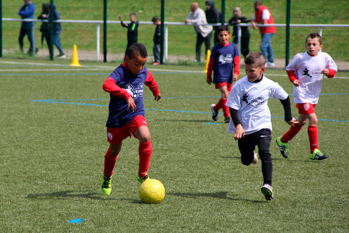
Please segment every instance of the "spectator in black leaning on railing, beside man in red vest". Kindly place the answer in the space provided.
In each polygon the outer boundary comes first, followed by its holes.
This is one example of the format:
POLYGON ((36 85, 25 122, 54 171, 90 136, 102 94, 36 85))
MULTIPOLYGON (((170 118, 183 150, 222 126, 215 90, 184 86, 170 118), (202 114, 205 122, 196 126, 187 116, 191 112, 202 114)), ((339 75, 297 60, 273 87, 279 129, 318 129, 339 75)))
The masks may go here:
MULTIPOLYGON (((236 25, 237 23, 247 23, 251 20, 247 20, 245 16, 242 15, 240 7, 235 7, 233 9, 233 17, 228 21, 230 25, 236 25)), ((233 28, 233 43, 238 43, 238 26, 233 28)), ((246 58, 247 54, 250 53, 250 48, 248 44, 250 43, 250 32, 247 27, 241 27, 241 53, 246 58)))

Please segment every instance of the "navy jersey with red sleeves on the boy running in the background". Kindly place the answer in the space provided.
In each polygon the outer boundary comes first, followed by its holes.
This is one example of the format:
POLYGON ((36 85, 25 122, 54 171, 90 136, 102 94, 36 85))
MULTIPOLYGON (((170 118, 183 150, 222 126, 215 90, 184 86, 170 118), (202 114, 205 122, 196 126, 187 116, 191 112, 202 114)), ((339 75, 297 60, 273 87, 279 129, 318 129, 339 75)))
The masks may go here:
POLYGON ((235 72, 239 74, 240 71, 240 54, 235 44, 228 43, 222 45, 221 43, 213 46, 210 60, 214 60, 213 64, 213 83, 233 81, 233 65, 235 65, 235 72), (237 64, 238 63, 238 64, 237 64))

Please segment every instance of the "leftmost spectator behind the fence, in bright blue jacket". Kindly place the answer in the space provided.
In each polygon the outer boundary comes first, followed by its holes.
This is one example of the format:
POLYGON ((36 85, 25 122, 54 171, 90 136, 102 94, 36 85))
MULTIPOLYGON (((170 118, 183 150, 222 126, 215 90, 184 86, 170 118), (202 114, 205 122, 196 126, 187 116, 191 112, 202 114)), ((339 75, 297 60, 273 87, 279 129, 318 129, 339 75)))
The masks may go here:
MULTIPOLYGON (((30 0, 24 0, 24 5, 18 11, 18 15, 21 16, 22 19, 34 19, 35 5, 30 0)), ((20 50, 23 53, 23 38, 25 34, 28 36, 28 41, 30 43, 30 48, 28 50, 28 54, 33 54, 33 22, 24 22, 22 21, 20 35, 18 36, 18 43, 20 45, 20 50)), ((36 50, 37 51, 37 50, 36 50)))

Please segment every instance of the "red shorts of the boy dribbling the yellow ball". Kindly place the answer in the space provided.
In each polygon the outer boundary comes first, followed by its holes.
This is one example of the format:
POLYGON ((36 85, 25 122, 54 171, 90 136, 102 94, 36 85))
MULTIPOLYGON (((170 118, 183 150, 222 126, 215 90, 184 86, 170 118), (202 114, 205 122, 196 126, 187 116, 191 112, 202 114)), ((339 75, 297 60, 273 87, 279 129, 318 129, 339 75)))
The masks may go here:
MULTIPOLYGON (((133 120, 124 126, 118 128, 107 127, 108 141, 111 144, 119 144, 127 137, 131 137, 134 131, 140 126, 145 125, 148 127, 147 120, 143 116, 135 116, 133 120)), ((133 135, 134 136, 134 135, 133 135)), ((137 138, 136 136, 134 136, 137 138)))

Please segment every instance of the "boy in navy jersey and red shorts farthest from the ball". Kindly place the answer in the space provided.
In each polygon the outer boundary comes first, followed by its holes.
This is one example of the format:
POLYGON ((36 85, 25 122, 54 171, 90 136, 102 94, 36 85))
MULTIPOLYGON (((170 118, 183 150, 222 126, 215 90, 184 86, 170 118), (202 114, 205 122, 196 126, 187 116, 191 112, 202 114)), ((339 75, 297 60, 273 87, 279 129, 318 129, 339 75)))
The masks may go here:
POLYGON ((231 36, 228 26, 220 26, 217 29, 220 43, 212 48, 210 61, 207 68, 207 83, 215 84, 216 89, 221 91, 221 99, 216 104, 211 104, 212 118, 218 119, 218 110, 223 109, 224 122, 229 123, 229 107, 227 102, 232 82, 238 79, 240 73, 240 55, 236 45, 229 42, 231 36), (234 73, 232 72, 234 66, 234 73), (211 78, 213 71, 213 81, 211 78))

